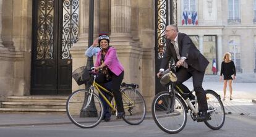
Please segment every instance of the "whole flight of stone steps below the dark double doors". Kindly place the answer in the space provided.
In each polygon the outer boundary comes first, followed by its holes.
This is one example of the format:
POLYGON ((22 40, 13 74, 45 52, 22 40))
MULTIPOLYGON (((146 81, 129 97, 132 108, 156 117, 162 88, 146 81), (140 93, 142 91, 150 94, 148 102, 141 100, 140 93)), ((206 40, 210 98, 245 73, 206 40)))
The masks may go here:
POLYGON ((0 102, 0 112, 66 114, 68 96, 8 96, 0 102))

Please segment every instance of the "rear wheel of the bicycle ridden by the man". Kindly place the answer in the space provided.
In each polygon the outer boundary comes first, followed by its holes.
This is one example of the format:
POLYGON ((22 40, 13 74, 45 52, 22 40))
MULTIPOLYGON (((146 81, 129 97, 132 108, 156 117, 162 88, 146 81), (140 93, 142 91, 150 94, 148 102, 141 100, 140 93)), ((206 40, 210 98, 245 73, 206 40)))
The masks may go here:
POLYGON ((211 116, 211 120, 205 121, 207 127, 212 130, 220 129, 225 122, 225 110, 221 101, 220 95, 212 90, 206 90, 208 114, 211 116))

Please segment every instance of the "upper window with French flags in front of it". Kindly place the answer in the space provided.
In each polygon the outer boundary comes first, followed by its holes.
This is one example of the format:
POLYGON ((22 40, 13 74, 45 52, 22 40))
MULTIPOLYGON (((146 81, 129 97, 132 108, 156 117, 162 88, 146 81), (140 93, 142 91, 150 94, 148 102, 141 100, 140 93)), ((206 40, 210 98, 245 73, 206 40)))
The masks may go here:
POLYGON ((182 25, 198 25, 197 0, 183 0, 182 25))

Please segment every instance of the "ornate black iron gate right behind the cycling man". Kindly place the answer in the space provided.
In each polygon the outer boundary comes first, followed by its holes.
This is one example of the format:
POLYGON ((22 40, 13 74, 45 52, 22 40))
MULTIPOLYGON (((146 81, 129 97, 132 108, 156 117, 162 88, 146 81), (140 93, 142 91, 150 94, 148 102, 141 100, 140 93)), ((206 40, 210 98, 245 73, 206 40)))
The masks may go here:
MULTIPOLYGON (((155 1, 155 67, 156 73, 159 72, 161 60, 166 46, 164 31, 169 24, 177 24, 177 0, 156 0, 155 1)), ((166 90, 156 77, 156 94, 166 90)))

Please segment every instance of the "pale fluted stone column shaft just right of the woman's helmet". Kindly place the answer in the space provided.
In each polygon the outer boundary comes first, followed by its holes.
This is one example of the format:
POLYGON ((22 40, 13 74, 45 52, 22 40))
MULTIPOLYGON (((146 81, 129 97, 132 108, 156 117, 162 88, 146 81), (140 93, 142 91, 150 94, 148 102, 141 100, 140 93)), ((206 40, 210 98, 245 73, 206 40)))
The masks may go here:
POLYGON ((130 44, 129 42, 132 41, 131 17, 132 7, 130 0, 111 0, 111 43, 122 42, 122 45, 130 44))

